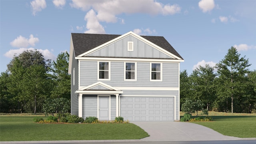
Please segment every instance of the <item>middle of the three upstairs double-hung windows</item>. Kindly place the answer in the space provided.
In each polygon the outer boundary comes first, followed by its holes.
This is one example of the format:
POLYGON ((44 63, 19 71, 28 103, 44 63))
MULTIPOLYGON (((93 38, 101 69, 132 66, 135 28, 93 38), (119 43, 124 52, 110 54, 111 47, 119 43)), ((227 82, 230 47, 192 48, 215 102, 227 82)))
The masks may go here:
POLYGON ((136 63, 125 62, 124 63, 124 80, 136 80, 136 63))

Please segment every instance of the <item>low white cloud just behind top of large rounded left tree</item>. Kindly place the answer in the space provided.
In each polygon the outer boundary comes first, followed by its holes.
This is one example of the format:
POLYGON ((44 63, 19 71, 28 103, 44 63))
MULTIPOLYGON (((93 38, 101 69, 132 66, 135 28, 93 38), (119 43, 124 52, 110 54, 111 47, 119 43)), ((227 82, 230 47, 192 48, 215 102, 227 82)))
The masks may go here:
MULTIPOLYGON (((13 58, 14 55, 18 56, 26 50, 36 50, 36 49, 34 49, 34 48, 19 48, 19 49, 15 49, 15 50, 9 50, 8 52, 6 52, 4 54, 4 56, 6 56, 8 58, 13 58)), ((56 59, 56 56, 54 56, 54 54, 52 54, 52 52, 50 52, 48 49, 46 49, 46 50, 39 49, 38 51, 42 53, 42 55, 44 56, 44 58, 46 60, 47 59, 51 59, 51 60, 56 59)))

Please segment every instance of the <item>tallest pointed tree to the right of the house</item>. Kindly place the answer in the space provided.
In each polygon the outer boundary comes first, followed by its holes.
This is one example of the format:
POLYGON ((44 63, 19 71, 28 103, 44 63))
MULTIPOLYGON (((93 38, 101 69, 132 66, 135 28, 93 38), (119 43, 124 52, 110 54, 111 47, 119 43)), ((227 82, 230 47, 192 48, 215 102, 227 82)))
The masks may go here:
MULTIPOLYGON (((231 112, 234 112, 234 99, 238 100, 242 96, 241 90, 245 88, 245 77, 249 73, 248 59, 240 58, 235 47, 228 50, 227 55, 218 64, 216 64, 218 73, 218 86, 216 94, 218 96, 218 105, 222 105, 226 101, 228 106, 231 101, 231 112)), ((228 107, 225 108, 228 111, 228 107)))

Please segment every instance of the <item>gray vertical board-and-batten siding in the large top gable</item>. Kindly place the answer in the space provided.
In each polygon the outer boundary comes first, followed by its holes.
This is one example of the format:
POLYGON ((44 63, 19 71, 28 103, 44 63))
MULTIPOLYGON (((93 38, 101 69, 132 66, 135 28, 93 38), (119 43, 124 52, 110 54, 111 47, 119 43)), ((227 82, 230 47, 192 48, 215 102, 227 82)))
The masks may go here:
POLYGON ((121 40, 113 42, 88 56, 96 57, 124 57, 124 58, 171 58, 158 49, 142 42, 134 36, 126 36, 121 40), (134 50, 128 51, 127 43, 134 43, 134 50))

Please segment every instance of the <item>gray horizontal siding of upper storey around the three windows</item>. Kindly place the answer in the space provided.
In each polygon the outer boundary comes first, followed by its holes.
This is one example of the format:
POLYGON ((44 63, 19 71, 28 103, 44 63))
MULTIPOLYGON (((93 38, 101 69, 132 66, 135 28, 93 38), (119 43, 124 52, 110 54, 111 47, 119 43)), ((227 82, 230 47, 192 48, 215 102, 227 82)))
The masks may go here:
MULTIPOLYGON (((178 63, 162 63, 162 82, 150 81, 150 62, 137 62, 137 81, 124 80, 124 62, 110 62, 110 86, 178 87, 178 63)), ((80 60, 80 86, 98 82, 98 62, 80 60)))

